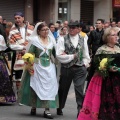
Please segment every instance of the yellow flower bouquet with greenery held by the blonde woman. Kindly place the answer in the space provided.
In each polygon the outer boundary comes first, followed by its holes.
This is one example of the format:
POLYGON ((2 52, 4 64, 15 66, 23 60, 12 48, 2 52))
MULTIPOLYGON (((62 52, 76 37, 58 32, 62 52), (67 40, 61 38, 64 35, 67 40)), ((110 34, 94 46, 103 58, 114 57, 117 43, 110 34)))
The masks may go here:
POLYGON ((98 66, 98 73, 102 75, 103 77, 109 76, 109 69, 111 67, 111 62, 114 60, 114 58, 106 57, 102 60, 99 60, 99 66, 98 66))

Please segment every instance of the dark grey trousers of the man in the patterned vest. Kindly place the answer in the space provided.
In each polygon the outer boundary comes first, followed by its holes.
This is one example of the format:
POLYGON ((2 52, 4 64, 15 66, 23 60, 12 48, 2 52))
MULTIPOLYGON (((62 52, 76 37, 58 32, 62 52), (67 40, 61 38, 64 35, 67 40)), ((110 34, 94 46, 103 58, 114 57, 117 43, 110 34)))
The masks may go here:
POLYGON ((73 81, 78 112, 80 111, 84 99, 83 88, 87 75, 85 66, 72 66, 70 68, 61 67, 61 76, 59 81, 59 108, 65 106, 69 88, 73 81))

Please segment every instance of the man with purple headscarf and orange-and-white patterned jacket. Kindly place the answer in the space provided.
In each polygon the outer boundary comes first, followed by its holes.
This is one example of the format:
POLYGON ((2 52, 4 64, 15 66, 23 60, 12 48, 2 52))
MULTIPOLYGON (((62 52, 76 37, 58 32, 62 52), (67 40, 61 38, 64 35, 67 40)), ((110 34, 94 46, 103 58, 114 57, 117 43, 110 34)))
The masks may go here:
POLYGON ((32 34, 34 27, 26 24, 22 12, 14 14, 15 24, 13 24, 9 33, 9 46, 14 50, 12 58, 12 73, 15 72, 16 87, 19 89, 21 76, 24 67, 22 56, 25 53, 28 37, 32 34))

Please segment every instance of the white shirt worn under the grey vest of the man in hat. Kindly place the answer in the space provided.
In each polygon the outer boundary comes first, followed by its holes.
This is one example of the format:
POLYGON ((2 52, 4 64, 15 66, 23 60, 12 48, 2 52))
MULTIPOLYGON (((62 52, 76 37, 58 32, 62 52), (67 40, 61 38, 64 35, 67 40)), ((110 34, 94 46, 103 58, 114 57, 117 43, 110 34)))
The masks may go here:
MULTIPOLYGON (((78 34, 74 37, 70 37, 73 46, 76 48, 78 44, 78 34)), ((66 54, 64 46, 64 37, 59 37, 57 47, 56 47, 56 56, 61 63, 69 63, 74 59, 74 54, 66 54)), ((83 49, 83 63, 86 67, 89 66, 90 56, 88 51, 87 40, 84 39, 84 49, 83 49)))

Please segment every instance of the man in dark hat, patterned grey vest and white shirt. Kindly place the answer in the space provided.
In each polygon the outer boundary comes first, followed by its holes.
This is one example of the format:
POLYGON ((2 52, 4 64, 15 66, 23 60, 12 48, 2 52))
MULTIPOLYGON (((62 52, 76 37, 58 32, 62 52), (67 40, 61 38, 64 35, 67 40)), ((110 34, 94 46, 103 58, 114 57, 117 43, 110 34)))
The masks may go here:
POLYGON ((61 63, 58 115, 63 115, 62 109, 65 106, 72 80, 75 87, 78 113, 84 99, 83 88, 87 74, 86 67, 90 63, 90 56, 87 40, 84 40, 78 32, 79 23, 70 23, 69 34, 60 37, 56 47, 56 56, 61 63))

